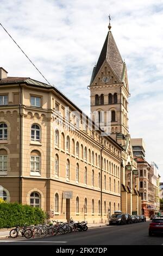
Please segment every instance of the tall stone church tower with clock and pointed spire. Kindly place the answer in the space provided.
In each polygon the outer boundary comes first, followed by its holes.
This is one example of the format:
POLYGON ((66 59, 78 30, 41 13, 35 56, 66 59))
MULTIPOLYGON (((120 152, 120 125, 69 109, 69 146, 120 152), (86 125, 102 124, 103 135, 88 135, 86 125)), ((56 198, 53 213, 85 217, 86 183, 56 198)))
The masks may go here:
POLYGON ((110 136, 124 146, 123 139, 128 135, 127 68, 110 31, 110 23, 108 28, 109 32, 92 72, 91 113, 92 119, 98 123, 97 119, 95 120, 95 112, 98 112, 101 127, 107 127, 110 136), (108 114, 111 119, 109 121, 108 114))

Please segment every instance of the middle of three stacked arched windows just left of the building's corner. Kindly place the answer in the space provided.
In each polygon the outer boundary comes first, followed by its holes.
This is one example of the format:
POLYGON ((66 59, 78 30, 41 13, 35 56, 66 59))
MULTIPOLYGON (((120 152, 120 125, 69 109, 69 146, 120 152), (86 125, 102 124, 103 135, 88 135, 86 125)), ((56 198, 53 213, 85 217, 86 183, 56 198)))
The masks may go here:
POLYGON ((41 154, 37 150, 30 153, 30 172, 40 172, 41 154))

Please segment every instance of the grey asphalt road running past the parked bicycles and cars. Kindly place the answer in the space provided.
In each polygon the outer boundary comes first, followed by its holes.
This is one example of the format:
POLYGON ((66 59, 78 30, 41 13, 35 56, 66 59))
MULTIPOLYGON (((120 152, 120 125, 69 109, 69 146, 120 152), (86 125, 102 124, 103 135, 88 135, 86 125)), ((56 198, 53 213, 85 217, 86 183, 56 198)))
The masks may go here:
POLYGON ((148 236, 149 222, 90 228, 87 231, 39 239, 5 239, 1 245, 163 245, 163 235, 148 236))

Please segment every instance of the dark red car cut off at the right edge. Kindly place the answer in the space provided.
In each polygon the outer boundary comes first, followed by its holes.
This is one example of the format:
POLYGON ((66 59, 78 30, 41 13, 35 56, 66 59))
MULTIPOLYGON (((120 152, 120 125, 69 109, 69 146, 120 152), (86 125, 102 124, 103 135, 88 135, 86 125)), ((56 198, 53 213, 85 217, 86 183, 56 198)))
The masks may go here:
POLYGON ((152 236, 154 233, 163 233, 163 218, 153 218, 149 224, 149 236, 152 236))

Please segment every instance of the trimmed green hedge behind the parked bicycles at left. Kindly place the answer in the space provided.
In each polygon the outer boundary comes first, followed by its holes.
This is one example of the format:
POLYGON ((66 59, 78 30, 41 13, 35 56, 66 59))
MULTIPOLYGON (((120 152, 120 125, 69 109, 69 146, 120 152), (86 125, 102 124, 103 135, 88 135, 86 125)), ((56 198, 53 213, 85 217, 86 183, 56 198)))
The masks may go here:
POLYGON ((18 203, 0 204, 0 228, 44 223, 45 218, 46 215, 40 208, 18 203))

